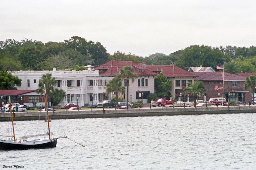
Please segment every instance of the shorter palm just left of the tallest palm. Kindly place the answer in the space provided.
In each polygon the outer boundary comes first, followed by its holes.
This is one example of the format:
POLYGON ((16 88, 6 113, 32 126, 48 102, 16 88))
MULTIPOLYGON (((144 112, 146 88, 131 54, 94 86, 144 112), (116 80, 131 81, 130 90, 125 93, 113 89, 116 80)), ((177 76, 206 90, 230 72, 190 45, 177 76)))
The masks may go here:
POLYGON ((114 92, 116 95, 116 108, 118 107, 118 92, 124 93, 125 88, 122 86, 122 82, 118 77, 113 78, 107 84, 107 92, 114 92))

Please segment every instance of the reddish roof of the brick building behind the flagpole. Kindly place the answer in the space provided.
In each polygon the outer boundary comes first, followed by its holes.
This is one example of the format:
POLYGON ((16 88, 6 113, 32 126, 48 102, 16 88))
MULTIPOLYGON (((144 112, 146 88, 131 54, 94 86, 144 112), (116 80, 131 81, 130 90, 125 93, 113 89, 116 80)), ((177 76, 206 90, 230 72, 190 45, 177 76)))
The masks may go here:
MULTIPOLYGON (((199 76, 195 78, 195 80, 199 81, 222 81, 223 80, 223 72, 216 71, 216 72, 193 72, 195 75, 199 76)), ((245 80, 244 76, 231 74, 231 73, 224 73, 224 80, 245 80)))

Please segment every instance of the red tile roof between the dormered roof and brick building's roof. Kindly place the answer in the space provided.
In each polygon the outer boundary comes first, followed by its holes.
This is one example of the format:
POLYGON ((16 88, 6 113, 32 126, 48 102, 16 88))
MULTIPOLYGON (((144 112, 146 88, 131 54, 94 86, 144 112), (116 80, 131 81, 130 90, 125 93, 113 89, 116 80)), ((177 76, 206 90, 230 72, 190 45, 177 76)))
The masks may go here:
POLYGON ((194 72, 188 72, 173 64, 171 65, 147 65, 147 69, 154 72, 162 72, 165 77, 197 77, 194 72))

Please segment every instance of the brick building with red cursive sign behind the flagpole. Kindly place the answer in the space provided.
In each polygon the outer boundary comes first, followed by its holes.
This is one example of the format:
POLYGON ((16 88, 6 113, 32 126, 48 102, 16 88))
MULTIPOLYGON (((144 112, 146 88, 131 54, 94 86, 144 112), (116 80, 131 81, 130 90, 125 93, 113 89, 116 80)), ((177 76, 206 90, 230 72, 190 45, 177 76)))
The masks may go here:
MULTIPOLYGON (((214 97, 222 97, 223 72, 193 72, 197 78, 203 81, 206 93, 206 100, 214 97)), ((251 100, 252 90, 244 89, 245 77, 241 75, 224 73, 224 93, 223 97, 227 101, 248 102, 251 100)))

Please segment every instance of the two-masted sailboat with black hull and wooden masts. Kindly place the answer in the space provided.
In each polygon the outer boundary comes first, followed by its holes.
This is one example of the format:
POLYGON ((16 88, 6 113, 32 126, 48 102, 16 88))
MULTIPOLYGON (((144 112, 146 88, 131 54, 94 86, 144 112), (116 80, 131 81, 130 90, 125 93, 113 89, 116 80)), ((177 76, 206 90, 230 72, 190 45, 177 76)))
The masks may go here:
MULTIPOLYGON (((17 140, 15 138, 14 124, 13 124, 13 112, 12 112, 12 106, 10 104, 9 107, 10 107, 11 120, 12 120, 13 135, 12 136, 2 136, 2 135, 0 135, 0 137, 11 137, 11 138, 8 138, 8 140, 0 139, 0 149, 2 149, 2 150, 15 150, 15 149, 31 149, 31 148, 41 149, 41 148, 54 148, 54 147, 56 147, 57 139, 58 138, 63 138, 63 137, 53 138, 53 134, 50 133, 50 121, 49 121, 49 113, 48 113, 48 105, 47 105, 47 96, 46 96, 45 85, 44 85, 44 98, 45 98, 45 108, 47 108, 46 112, 47 112, 48 132, 44 133, 44 134, 36 134, 36 135, 29 135, 29 136, 20 137, 20 140, 17 140), (31 138, 31 137, 38 137, 38 136, 48 136, 48 139, 29 140, 29 138, 31 138), (21 141, 21 139, 23 141, 21 141)), ((9 100, 10 100, 10 97, 9 97, 9 100)))

